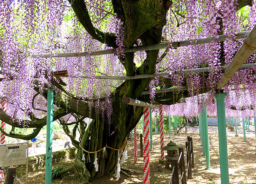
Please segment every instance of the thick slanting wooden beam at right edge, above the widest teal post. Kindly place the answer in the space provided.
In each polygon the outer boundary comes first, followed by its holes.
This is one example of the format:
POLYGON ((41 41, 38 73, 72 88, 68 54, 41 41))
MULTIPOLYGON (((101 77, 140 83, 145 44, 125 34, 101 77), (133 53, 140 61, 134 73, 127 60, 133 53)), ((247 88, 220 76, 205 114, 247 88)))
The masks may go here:
POLYGON ((235 57, 231 61, 227 70, 221 77, 221 81, 218 83, 217 88, 221 89, 225 86, 237 72, 237 70, 243 65, 244 62, 255 52, 256 50, 256 26, 253 27, 253 30, 250 32, 249 36, 245 39, 243 45, 236 53, 235 57))

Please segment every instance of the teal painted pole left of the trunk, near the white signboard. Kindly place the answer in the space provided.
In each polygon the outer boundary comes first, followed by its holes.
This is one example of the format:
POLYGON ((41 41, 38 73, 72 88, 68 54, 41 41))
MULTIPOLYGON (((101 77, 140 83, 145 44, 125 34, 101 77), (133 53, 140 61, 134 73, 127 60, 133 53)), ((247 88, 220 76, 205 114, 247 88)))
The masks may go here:
POLYGON ((47 92, 47 132, 46 132, 46 159, 45 184, 52 183, 52 121, 53 121, 53 89, 47 92))

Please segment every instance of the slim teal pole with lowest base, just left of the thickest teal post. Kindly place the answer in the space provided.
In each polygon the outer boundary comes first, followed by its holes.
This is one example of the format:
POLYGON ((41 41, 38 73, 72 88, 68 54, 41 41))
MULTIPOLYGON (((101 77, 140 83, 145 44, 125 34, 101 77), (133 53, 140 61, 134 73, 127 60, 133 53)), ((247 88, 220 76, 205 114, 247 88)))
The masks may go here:
POLYGON ((204 142, 205 142, 205 153, 206 153, 206 168, 211 168, 210 162, 210 151, 209 151, 209 135, 208 135, 208 123, 207 123, 207 108, 204 104, 204 142))

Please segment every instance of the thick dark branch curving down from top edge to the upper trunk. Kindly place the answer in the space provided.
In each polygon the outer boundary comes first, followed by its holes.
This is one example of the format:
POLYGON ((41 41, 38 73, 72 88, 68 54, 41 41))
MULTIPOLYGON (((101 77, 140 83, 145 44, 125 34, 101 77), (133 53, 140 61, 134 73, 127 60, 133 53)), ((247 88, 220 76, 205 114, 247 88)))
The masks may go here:
POLYGON ((110 47, 116 47, 116 36, 113 33, 104 33, 96 29, 90 19, 86 4, 84 0, 68 0, 72 9, 76 13, 79 22, 84 26, 87 32, 101 43, 107 44, 110 47))

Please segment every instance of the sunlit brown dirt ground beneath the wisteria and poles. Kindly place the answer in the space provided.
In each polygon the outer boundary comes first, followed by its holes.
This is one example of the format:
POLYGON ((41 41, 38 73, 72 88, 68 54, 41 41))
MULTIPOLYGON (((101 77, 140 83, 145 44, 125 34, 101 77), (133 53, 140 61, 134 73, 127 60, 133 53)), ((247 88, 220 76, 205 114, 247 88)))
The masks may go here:
MULTIPOLYGON (((254 130, 254 126, 250 129, 254 130)), ((192 179, 187 179, 188 184, 220 184, 220 162, 218 148, 218 127, 209 127, 209 150, 211 169, 206 170, 206 158, 202 155, 203 149, 199 139, 198 127, 188 127, 187 133, 183 132, 165 133, 164 141, 167 144, 170 140, 185 148, 187 136, 193 138, 195 168, 192 168, 192 179)), ((255 132, 246 130, 247 142, 243 142, 242 126, 238 127, 239 137, 235 137, 235 132, 227 129, 227 147, 229 160, 230 184, 256 184, 256 141, 255 132)), ((139 139, 138 139, 139 144, 139 139)), ((185 150, 185 149, 184 149, 185 150)), ((165 154, 166 155, 166 154, 165 154)), ((160 158, 160 135, 153 135, 153 150, 150 151, 150 182, 151 184, 168 184, 172 171, 159 164, 160 158)), ((185 158, 186 159, 186 158, 185 158)), ((68 166, 73 161, 53 164, 54 166, 68 166)), ((186 160, 185 160, 186 162, 186 160)), ((128 161, 121 167, 138 171, 138 173, 126 172, 131 177, 121 173, 121 178, 117 180, 115 175, 107 175, 96 179, 91 184, 143 184, 143 157, 140 157, 140 147, 138 149, 138 161, 134 163, 133 142, 128 142, 128 161)), ((71 184, 74 175, 70 173, 63 178, 55 179, 52 184, 71 184)), ((25 178, 20 178, 25 183, 25 178)), ((15 181, 15 184, 18 184, 15 181)), ((44 184, 44 170, 37 170, 29 173, 29 184, 44 184)))

